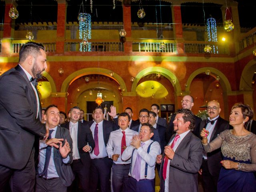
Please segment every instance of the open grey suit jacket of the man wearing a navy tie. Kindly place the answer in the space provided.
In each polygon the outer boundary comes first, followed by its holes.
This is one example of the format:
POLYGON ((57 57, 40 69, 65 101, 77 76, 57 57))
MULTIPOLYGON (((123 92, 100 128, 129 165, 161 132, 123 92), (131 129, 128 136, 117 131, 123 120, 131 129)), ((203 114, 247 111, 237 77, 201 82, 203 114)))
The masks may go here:
POLYGON ((54 164, 56 167, 56 171, 58 173, 58 176, 60 177, 62 183, 64 186, 68 187, 72 184, 74 180, 74 174, 72 172, 70 164, 72 163, 73 157, 72 157, 72 139, 69 134, 69 130, 63 127, 58 126, 56 130, 56 135, 55 138, 63 138, 64 142, 62 142, 62 145, 65 143, 65 139, 68 141, 70 145, 71 152, 68 154, 70 158, 70 162, 68 164, 64 164, 62 161, 62 156, 60 154, 60 151, 56 148, 53 149, 53 159, 54 159, 54 164))

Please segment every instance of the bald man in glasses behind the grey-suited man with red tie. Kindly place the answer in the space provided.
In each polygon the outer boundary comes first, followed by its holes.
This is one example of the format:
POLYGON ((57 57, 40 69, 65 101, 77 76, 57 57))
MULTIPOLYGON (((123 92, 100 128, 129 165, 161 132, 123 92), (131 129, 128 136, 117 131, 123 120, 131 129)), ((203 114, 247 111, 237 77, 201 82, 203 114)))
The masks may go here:
MULTIPOLYGON (((189 109, 191 110, 192 107, 194 106, 194 98, 190 95, 185 95, 182 100, 181 100, 181 103, 182 103, 182 108, 183 109, 189 109)), ((175 116, 176 114, 173 114, 171 116, 171 119, 170 119, 170 122, 166 128, 166 141, 170 140, 170 137, 174 134, 174 126, 173 126, 173 121, 175 119, 175 116)), ((199 118, 198 116, 194 115, 194 118, 195 118, 195 127, 194 127, 194 130, 192 130, 192 132, 197 136, 200 132, 199 132, 199 126, 200 126, 200 123, 202 121, 201 118, 199 118)))

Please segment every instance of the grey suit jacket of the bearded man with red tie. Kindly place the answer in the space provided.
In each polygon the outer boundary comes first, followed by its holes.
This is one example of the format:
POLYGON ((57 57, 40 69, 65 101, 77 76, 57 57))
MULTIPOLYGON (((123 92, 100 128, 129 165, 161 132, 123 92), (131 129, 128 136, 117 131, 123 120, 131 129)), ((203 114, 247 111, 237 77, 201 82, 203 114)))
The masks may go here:
MULTIPOLYGON (((176 134, 172 135, 174 138, 176 134)), ((170 162, 169 192, 198 192, 198 170, 202 164, 203 148, 199 138, 192 132, 184 137, 170 162)), ((164 191, 162 176, 164 155, 160 166, 160 188, 164 191)), ((168 173, 167 173, 168 174, 168 173)))

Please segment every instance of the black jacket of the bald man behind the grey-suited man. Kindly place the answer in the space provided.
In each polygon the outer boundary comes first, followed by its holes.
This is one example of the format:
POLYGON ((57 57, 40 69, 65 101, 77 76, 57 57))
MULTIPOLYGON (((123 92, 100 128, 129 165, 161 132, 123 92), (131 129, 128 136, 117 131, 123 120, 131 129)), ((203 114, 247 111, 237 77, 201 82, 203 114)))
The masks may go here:
MULTIPOLYGON (((174 134, 174 130, 173 130, 173 121, 176 117, 176 114, 173 114, 171 116, 170 122, 166 128, 166 141, 170 140, 171 136, 174 134)), ((202 121, 202 119, 196 115, 194 115, 195 117, 195 128, 194 130, 192 130, 192 133, 194 133, 196 136, 198 136, 199 133, 199 129, 200 129, 200 123, 202 121)))

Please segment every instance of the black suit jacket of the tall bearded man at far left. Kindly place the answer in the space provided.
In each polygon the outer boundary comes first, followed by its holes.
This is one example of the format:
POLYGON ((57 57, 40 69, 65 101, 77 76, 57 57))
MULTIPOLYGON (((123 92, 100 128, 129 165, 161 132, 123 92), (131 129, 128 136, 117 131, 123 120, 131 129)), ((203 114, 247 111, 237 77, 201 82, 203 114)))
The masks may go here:
MULTIPOLYGON (((39 100, 40 104, 40 100, 39 100)), ((26 166, 35 136, 45 134, 38 118, 36 94, 28 77, 18 65, 0 76, 0 165, 13 169, 26 166)), ((38 140, 39 142, 39 140, 38 140)), ((39 143, 37 143, 39 147, 39 143)), ((38 150, 39 148, 36 148, 38 150)))

